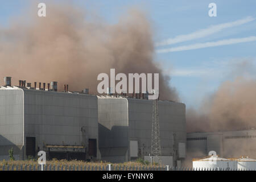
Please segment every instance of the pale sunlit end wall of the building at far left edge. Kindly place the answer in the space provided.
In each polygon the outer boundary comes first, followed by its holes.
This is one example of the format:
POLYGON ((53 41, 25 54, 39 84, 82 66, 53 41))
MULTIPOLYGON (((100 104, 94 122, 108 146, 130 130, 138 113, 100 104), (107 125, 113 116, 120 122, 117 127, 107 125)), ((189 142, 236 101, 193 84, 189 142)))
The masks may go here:
POLYGON ((23 146, 23 90, 0 90, 0 155, 22 158, 23 146))

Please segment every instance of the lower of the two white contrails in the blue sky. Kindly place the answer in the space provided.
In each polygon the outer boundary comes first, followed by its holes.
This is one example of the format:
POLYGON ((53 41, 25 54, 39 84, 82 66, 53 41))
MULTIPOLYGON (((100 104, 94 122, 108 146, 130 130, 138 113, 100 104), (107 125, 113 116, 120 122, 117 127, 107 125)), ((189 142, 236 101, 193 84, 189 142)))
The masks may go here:
POLYGON ((237 38, 237 39, 225 39, 225 40, 218 40, 216 42, 197 43, 197 44, 191 44, 188 46, 179 46, 179 47, 172 47, 172 48, 166 48, 166 49, 158 49, 158 50, 156 50, 156 52, 164 53, 164 52, 187 51, 187 50, 191 50, 191 49, 224 46, 224 45, 229 45, 229 44, 237 44, 237 43, 252 42, 252 41, 256 41, 256 36, 249 36, 247 38, 237 38))

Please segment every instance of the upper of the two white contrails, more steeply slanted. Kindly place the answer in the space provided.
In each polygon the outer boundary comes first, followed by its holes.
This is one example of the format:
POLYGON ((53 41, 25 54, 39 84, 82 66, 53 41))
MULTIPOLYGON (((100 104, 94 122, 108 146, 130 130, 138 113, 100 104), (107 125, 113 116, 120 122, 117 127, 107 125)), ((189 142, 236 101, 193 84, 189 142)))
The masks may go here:
POLYGON ((252 18, 251 16, 248 16, 246 18, 236 20, 234 22, 217 24, 217 25, 205 28, 205 29, 201 29, 201 30, 192 32, 191 34, 178 35, 175 38, 163 40, 162 42, 156 43, 155 46, 156 47, 166 46, 166 45, 176 44, 176 43, 180 43, 180 42, 185 42, 185 41, 188 41, 188 40, 204 38, 205 36, 209 36, 209 35, 215 34, 216 32, 220 32, 220 31, 224 30, 225 28, 240 26, 242 24, 251 22, 254 19, 255 18, 252 18))

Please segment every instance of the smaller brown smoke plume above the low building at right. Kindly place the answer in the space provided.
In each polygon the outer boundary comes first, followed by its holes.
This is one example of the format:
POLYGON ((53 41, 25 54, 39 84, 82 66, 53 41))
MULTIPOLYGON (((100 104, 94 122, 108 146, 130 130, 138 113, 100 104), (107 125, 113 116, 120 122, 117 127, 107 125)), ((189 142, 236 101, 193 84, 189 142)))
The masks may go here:
POLYGON ((192 131, 243 130, 256 127, 256 80, 237 77, 221 84, 201 106, 187 111, 187 129, 192 131))

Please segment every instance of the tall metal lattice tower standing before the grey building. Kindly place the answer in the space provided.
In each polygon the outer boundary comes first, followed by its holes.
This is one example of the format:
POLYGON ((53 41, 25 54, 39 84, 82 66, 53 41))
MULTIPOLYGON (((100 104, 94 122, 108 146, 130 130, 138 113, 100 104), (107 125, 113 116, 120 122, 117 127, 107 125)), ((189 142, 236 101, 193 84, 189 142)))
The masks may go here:
POLYGON ((161 155, 158 100, 153 101, 151 155, 152 156, 160 156, 161 155))

